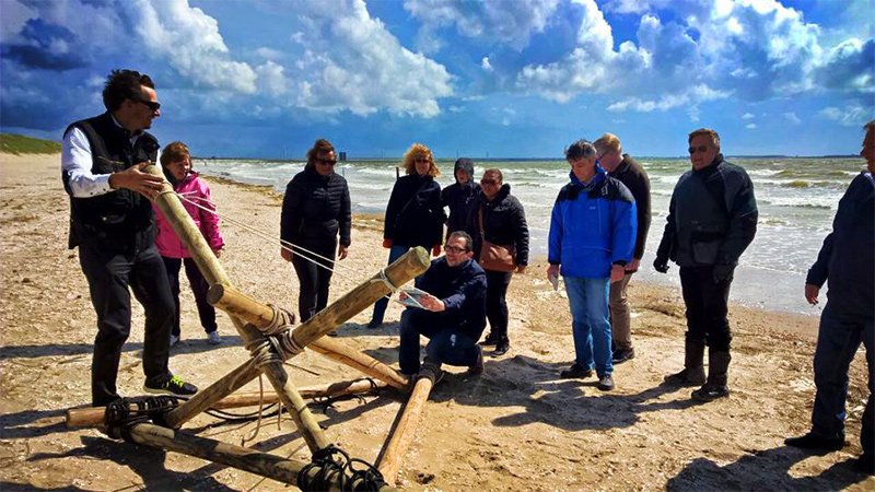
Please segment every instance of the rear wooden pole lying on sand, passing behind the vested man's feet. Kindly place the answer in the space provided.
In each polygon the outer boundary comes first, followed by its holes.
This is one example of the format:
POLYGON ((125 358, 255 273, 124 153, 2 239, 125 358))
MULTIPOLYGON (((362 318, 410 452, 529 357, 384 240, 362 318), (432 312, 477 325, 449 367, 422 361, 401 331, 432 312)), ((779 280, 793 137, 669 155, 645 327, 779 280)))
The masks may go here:
MULTIPOLYGON (((310 388, 301 388, 299 393, 302 398, 331 398, 347 395, 358 395, 375 389, 383 389, 386 384, 373 379, 341 380, 330 385, 320 385, 310 388)), ((219 400, 210 407, 210 410, 226 410, 241 407, 255 407, 259 403, 272 405, 279 402, 279 397, 272 393, 264 395, 258 393, 245 393, 241 395, 230 395, 219 400)), ((130 406, 131 410, 137 410, 136 405, 130 406)), ((206 409, 205 409, 206 410, 206 409)), ((104 414, 106 407, 71 408, 67 410, 67 426, 74 427, 96 427, 104 425, 104 414)))

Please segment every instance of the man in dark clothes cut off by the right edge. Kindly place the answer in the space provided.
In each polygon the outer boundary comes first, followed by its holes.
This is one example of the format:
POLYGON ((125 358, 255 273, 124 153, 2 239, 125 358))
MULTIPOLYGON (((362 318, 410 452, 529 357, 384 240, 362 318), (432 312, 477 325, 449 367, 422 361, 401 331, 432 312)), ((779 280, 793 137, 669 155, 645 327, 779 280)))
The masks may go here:
POLYGON ((868 400, 863 410, 860 444, 863 455, 854 462, 859 471, 875 473, 875 120, 866 124, 860 152, 866 171, 860 173, 839 201, 832 232, 824 239, 817 261, 805 280, 805 300, 817 304, 829 279, 827 305, 820 315, 814 353, 817 394, 812 430, 785 441, 805 449, 836 450, 844 447, 844 400, 848 367, 862 341, 868 366, 868 400))

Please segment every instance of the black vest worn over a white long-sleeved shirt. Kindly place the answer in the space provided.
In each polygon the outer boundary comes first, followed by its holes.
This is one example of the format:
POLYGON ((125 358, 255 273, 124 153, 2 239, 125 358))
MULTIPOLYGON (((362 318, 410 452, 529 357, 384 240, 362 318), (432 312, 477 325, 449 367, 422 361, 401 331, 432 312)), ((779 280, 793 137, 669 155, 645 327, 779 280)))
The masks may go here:
MULTIPOLYGON (((155 162, 159 144, 143 132, 130 144, 130 132, 115 124, 109 113, 77 121, 73 127, 85 133, 91 145, 92 174, 125 171, 143 162, 155 162)), ((63 187, 70 194, 70 249, 83 243, 100 243, 102 249, 132 251, 154 243, 155 219, 152 203, 142 195, 117 189, 95 197, 72 196, 69 176, 62 173, 63 187)))

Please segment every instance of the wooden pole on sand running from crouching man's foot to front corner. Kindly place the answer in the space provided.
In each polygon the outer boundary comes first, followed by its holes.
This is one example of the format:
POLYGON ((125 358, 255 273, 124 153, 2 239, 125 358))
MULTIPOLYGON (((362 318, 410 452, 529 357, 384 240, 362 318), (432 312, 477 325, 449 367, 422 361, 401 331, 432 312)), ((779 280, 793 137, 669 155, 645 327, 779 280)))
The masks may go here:
POLYGON ((401 460, 407 454, 410 443, 413 442, 413 435, 422 415, 422 407, 425 400, 429 399, 431 388, 440 378, 440 368, 423 364, 407 403, 398 412, 398 418, 395 420, 392 431, 389 431, 389 438, 386 441, 376 461, 376 467, 386 483, 394 485, 396 482, 401 460))

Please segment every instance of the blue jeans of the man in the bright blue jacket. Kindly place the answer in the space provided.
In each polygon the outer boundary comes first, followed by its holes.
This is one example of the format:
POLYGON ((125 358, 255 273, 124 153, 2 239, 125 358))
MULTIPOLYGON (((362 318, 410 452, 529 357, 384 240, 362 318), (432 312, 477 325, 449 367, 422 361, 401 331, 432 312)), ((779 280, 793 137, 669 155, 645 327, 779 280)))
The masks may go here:
POLYGON ((564 277, 568 303, 571 307, 574 352, 578 365, 593 368, 598 377, 614 372, 608 319, 609 279, 564 277))

